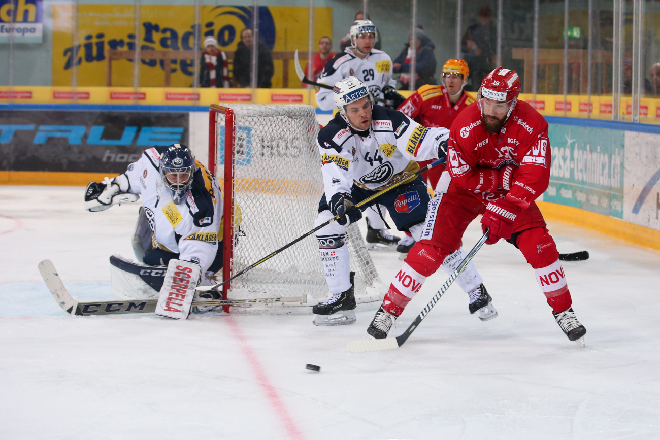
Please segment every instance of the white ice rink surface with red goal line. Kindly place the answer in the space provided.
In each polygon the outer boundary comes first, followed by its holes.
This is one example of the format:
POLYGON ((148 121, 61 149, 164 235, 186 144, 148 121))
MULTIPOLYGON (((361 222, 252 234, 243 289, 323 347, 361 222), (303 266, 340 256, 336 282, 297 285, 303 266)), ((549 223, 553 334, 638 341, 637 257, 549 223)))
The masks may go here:
MULTIPOLYGON (((39 261, 75 298, 112 299, 108 257, 132 257, 138 204, 84 212, 82 191, 0 187, 0 438, 660 438, 659 252, 550 222, 560 251, 591 253, 564 263, 586 349, 554 323, 519 251, 498 243, 475 263, 499 317, 469 315, 452 286, 404 346, 351 354, 371 311, 343 327, 65 314, 39 261)), ((465 248, 479 237, 472 224, 465 248)), ((401 261, 372 256, 389 283, 401 261)), ((445 279, 428 279, 393 335, 445 279)))

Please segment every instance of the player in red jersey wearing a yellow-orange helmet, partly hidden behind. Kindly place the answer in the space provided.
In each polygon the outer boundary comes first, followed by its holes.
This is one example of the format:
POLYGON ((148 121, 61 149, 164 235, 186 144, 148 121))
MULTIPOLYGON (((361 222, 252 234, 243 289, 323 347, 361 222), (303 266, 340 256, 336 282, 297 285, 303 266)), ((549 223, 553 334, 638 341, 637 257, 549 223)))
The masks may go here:
MULTIPOLYGON (((442 85, 434 86, 427 84, 421 86, 397 110, 403 111, 405 115, 413 119, 416 123, 424 125, 424 127, 444 127, 449 129, 458 114, 465 107, 475 102, 473 96, 470 96, 463 90, 463 87, 467 84, 469 75, 470 69, 464 59, 447 59, 447 62, 442 66, 442 85)), ((419 166, 423 168, 429 163, 428 161, 420 162, 419 166)), ((436 191, 440 176, 445 170, 444 165, 436 166, 422 173, 422 177, 436 191)), ((449 179, 447 179, 446 183, 449 183, 449 179)), ((441 185, 439 190, 441 192, 446 191, 446 185, 441 185)), ((413 245, 413 237, 406 234, 399 241, 397 251, 407 254, 413 245)), ((401 259, 403 259, 403 256, 405 255, 402 255, 401 259)))

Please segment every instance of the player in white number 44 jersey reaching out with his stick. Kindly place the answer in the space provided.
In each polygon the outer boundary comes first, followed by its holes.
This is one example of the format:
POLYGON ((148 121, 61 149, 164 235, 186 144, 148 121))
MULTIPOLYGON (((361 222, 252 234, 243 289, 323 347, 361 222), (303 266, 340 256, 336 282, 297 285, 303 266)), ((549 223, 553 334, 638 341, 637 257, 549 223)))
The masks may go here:
MULTIPOLYGON (((315 225, 335 215, 342 216, 316 232, 321 263, 330 298, 315 305, 315 325, 345 325, 355 322, 356 307, 350 272, 350 255, 345 243, 347 224, 362 217, 360 203, 419 170, 416 161, 446 158, 449 131, 422 127, 400 111, 374 106, 366 85, 355 77, 335 84, 339 113, 319 131, 321 172, 325 189, 315 225)), ((376 202, 385 206, 397 229, 420 237, 427 218, 429 195, 421 176, 396 187, 376 202)), ((429 210, 429 215, 432 215, 429 210)), ((465 257, 459 249, 442 268, 451 273, 465 257)), ((482 278, 472 263, 457 278, 469 295, 469 311, 482 321, 497 316, 482 278)))

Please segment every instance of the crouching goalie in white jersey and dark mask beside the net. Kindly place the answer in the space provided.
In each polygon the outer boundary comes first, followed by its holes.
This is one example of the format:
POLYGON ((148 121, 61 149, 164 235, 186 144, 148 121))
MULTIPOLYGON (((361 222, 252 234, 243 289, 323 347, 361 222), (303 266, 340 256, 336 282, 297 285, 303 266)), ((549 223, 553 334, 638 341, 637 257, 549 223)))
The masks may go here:
MULTIPOLYGON (((222 268, 222 243, 218 242, 222 194, 216 177, 195 160, 187 146, 145 150, 126 172, 106 177, 104 182, 91 182, 84 204, 89 211, 100 211, 131 196, 137 200, 137 195, 142 196, 143 207, 133 249, 144 264, 111 257, 112 273, 119 273, 119 280, 112 280, 114 294, 139 299, 158 296, 165 270, 154 272, 145 267, 163 268, 171 259, 199 265, 207 278, 222 268)), ((206 294, 209 299, 220 299, 215 291, 206 294)))

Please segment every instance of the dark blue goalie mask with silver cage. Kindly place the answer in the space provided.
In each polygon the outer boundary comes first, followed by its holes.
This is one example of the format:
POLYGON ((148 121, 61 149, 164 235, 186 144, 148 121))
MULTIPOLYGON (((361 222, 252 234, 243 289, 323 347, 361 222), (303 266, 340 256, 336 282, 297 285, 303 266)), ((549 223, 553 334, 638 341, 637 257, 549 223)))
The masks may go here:
POLYGON ((182 203, 193 185, 193 173, 195 157, 187 146, 172 144, 160 154, 160 176, 175 204, 182 203))

